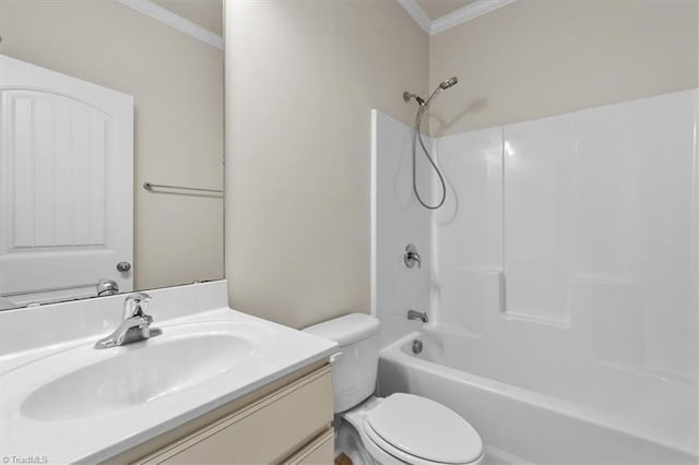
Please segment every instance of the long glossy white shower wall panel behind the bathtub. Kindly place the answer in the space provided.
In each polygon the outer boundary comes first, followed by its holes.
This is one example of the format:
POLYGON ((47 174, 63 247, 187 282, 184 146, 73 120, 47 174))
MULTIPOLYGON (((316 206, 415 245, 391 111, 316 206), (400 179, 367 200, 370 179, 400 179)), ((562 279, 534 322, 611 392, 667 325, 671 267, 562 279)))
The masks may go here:
POLYGON ((438 324, 511 351, 500 377, 536 392, 592 404, 595 390, 626 377, 659 406, 684 405, 666 417, 642 405, 616 415, 688 448, 699 363, 697 94, 438 139, 450 198, 433 217, 438 324))

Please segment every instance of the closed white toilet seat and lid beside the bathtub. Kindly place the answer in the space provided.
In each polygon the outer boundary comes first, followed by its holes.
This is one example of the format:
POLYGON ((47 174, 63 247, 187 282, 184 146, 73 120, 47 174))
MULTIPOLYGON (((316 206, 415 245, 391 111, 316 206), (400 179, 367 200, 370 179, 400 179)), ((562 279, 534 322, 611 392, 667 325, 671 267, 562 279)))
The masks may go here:
POLYGON ((475 465, 483 458, 483 441, 473 427, 425 397, 402 393, 371 397, 343 417, 381 463, 389 463, 387 456, 391 463, 411 465, 475 465))

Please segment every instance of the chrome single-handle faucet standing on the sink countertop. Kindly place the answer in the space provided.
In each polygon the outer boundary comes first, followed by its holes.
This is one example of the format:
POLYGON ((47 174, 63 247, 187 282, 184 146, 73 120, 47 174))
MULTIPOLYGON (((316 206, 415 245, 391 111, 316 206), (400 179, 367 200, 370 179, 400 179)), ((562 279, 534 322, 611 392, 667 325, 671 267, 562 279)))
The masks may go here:
POLYGON ((123 300, 123 320, 114 333, 103 337, 95 344, 96 349, 122 346, 163 334, 157 327, 151 327, 153 317, 144 312, 151 296, 145 293, 133 293, 123 300))

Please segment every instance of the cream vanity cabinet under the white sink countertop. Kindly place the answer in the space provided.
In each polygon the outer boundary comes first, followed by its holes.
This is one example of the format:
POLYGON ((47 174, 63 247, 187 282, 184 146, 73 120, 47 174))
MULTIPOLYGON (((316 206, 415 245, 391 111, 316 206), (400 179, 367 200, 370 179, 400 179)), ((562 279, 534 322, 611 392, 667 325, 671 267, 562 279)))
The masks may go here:
POLYGON ((258 389, 111 462, 332 464, 332 407, 331 367, 316 365, 258 389))

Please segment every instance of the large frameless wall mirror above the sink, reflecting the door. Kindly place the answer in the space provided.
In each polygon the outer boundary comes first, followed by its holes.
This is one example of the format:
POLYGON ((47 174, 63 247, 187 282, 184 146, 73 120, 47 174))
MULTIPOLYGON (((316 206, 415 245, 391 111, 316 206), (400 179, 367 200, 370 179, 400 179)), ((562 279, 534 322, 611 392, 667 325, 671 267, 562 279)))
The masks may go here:
POLYGON ((223 277, 223 2, 0 2, 0 309, 223 277))

